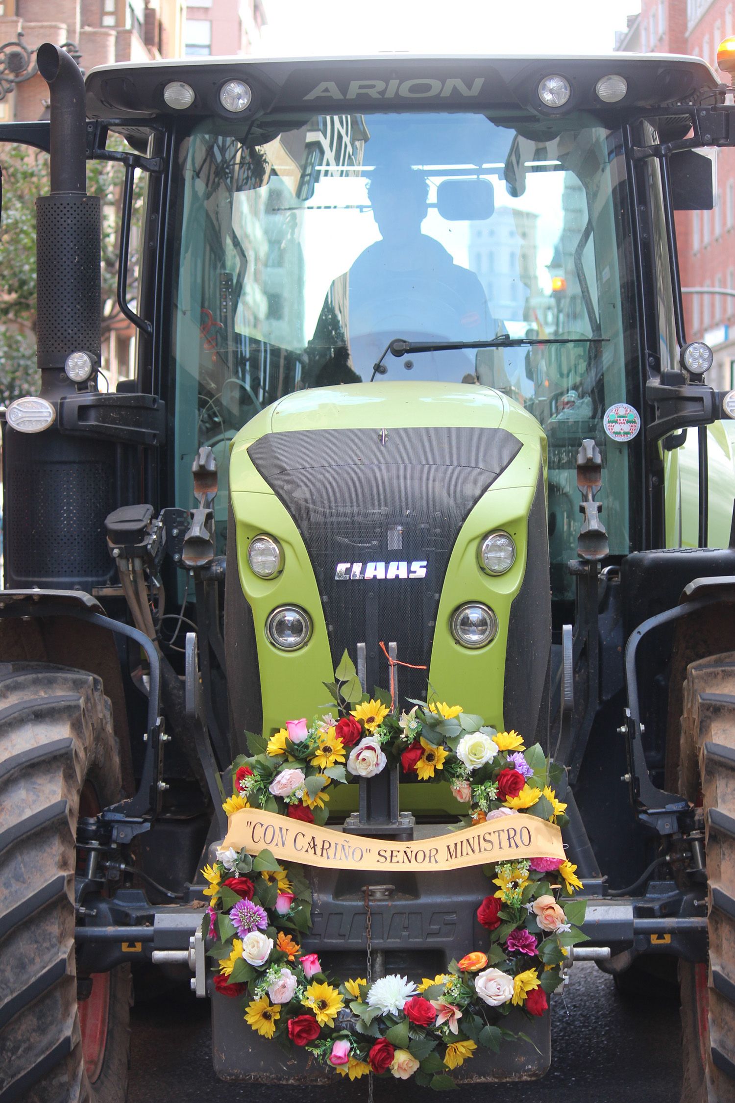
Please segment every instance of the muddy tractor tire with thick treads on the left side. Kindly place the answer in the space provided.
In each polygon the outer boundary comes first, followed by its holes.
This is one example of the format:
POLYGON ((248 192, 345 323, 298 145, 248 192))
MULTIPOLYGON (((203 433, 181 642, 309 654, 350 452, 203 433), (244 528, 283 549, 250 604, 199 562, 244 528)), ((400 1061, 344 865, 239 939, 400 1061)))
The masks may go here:
POLYGON ((0 1103, 125 1103, 130 968, 74 947, 77 818, 120 789, 100 679, 0 663, 0 1103))

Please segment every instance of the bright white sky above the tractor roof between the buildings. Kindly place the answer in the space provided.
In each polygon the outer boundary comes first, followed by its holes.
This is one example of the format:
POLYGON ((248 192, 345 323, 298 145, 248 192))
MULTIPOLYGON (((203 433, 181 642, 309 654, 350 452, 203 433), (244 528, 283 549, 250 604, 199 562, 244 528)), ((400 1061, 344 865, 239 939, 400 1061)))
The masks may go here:
POLYGON ((640 0, 264 0, 260 53, 606 54, 640 0))

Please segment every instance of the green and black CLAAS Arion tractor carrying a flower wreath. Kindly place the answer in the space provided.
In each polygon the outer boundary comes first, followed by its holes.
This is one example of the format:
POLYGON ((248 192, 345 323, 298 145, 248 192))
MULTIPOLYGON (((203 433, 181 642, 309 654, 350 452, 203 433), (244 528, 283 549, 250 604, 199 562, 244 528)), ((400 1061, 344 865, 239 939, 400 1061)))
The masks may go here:
POLYGON ((674 224, 726 88, 37 64, 50 122, 0 127, 51 157, 3 420, 0 1101, 122 1103, 133 981, 210 998, 225 1080, 531 1079, 584 959, 678 970, 683 1099, 735 1100, 735 393, 674 224), (87 160, 125 168, 115 392, 87 160))

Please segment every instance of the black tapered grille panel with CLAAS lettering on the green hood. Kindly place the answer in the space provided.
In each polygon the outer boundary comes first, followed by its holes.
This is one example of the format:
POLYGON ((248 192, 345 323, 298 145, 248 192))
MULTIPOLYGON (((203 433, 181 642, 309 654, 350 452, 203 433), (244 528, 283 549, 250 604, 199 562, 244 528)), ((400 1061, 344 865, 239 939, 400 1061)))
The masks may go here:
MULTIPOLYGON (((248 454, 294 518, 316 576, 335 664, 367 644, 368 687, 387 685, 378 642, 429 666, 446 564, 462 524, 521 448, 505 429, 315 429, 261 437, 248 454), (343 566, 337 579, 338 565, 343 566), (379 576, 355 578, 361 564, 379 576), (390 565, 397 565, 391 567, 390 565), (406 565, 406 566, 403 566, 406 565), (424 569, 425 565, 425 569, 424 569), (401 577, 401 575, 409 577, 401 577), (410 577, 413 574, 417 577, 410 577), (423 574, 423 577, 421 577, 423 574), (379 656, 380 661, 379 662, 379 656)), ((400 695, 425 699, 426 672, 400 695)))

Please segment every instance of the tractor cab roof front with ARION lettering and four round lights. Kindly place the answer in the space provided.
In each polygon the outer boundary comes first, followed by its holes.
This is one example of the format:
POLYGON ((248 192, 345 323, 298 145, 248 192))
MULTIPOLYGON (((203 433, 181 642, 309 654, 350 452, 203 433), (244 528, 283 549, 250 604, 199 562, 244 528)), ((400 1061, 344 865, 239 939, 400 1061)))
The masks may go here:
POLYGON ((93 69, 87 76, 90 118, 153 115, 233 116, 219 104, 227 81, 246 81, 252 101, 241 116, 275 113, 469 110, 531 111, 541 117, 570 113, 631 110, 646 113, 678 104, 712 103, 722 84, 696 57, 668 54, 614 53, 590 57, 504 57, 489 55, 278 58, 202 57, 120 64, 93 69), (572 95, 564 107, 549 109, 538 96, 543 77, 564 76, 572 95), (628 85, 612 107, 595 92, 601 77, 617 74, 628 85), (166 105, 163 89, 173 81, 195 94, 185 110, 166 105))

